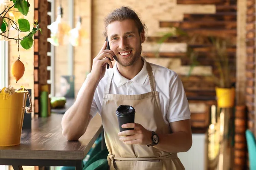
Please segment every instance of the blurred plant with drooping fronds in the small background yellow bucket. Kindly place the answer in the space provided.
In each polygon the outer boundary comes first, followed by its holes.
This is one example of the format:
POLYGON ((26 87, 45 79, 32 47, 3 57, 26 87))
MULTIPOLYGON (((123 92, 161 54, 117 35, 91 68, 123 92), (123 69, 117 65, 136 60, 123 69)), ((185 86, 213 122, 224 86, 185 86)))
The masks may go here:
MULTIPOLYGON (((175 27, 173 27, 175 28, 175 27)), ((173 29, 172 29, 173 30, 173 29)), ((232 75, 232 68, 234 68, 235 62, 232 62, 228 54, 227 48, 234 45, 229 38, 205 36, 201 34, 188 34, 180 28, 175 28, 176 31, 167 32, 162 34, 162 37, 158 41, 158 47, 156 50, 156 57, 159 57, 160 45, 169 38, 183 37, 188 42, 188 47, 185 57, 189 59, 190 69, 187 74, 189 77, 193 68, 196 65, 200 65, 198 61, 198 51, 192 48, 193 45, 203 44, 209 48, 207 54, 212 60, 212 65, 215 66, 215 74, 208 76, 215 84, 216 100, 218 107, 230 108, 234 106, 235 88, 232 75)))

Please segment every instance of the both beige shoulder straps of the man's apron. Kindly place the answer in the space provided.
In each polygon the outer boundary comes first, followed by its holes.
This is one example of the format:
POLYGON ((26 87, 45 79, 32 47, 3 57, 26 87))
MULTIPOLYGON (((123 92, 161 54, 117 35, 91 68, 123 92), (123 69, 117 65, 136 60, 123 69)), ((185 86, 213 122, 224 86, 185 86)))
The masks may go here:
MULTIPOLYGON (((147 62, 147 71, 148 71, 148 79, 149 79, 149 82, 150 82, 151 91, 156 91, 156 85, 155 85, 155 82, 154 82, 154 75, 153 75, 153 72, 152 72, 151 65, 148 62, 147 62)), ((109 94, 110 85, 111 85, 113 75, 114 75, 114 71, 111 71, 111 75, 108 77, 108 82, 107 82, 104 94, 109 94)))

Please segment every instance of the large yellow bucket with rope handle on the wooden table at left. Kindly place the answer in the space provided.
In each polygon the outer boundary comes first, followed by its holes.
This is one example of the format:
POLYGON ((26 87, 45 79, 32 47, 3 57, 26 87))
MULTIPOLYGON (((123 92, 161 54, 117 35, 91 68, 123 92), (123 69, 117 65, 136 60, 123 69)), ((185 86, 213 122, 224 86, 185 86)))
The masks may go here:
POLYGON ((9 95, 4 92, 5 89, 0 93, 0 147, 20 144, 26 98, 29 94, 27 90, 22 90, 9 95))

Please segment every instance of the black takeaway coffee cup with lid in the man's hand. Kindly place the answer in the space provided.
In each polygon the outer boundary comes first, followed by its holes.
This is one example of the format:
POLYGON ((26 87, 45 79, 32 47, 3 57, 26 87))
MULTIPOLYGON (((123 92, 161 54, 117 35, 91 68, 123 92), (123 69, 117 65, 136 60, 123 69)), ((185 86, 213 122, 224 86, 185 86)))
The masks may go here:
POLYGON ((123 124, 134 123, 135 109, 129 105, 120 105, 116 109, 116 116, 120 132, 124 130, 133 130, 134 128, 122 128, 123 124))

